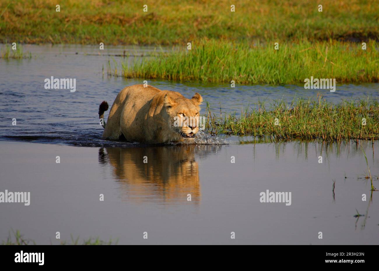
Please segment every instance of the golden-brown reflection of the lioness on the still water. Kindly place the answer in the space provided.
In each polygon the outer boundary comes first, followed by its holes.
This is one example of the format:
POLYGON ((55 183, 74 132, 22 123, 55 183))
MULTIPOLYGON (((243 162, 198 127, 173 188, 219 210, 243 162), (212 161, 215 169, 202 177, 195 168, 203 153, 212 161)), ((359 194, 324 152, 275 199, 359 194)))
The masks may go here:
POLYGON ((99 162, 110 164, 121 182, 123 199, 186 204, 187 195, 199 203, 199 165, 195 154, 212 153, 217 146, 176 145, 100 148, 99 162), (147 163, 144 163, 146 162, 147 163))

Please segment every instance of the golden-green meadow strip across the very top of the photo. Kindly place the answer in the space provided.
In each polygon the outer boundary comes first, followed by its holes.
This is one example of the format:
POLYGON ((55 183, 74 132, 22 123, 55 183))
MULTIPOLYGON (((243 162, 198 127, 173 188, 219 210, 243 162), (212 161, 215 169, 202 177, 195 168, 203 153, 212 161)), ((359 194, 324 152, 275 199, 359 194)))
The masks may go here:
POLYGON ((379 37, 376 0, 3 0, 0 41, 181 44, 203 37, 279 43, 379 37), (56 12, 56 5, 60 12, 56 12), (143 12, 143 5, 148 12, 143 12), (235 12, 230 5, 235 5, 235 12), (318 5, 323 12, 318 12, 318 5))

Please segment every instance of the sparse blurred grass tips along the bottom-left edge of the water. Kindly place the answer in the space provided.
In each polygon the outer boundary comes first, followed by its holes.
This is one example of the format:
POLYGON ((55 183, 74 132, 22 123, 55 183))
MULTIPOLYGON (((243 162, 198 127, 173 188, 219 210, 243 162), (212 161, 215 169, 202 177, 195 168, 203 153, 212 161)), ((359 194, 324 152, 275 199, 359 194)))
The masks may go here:
MULTIPOLYGON (((88 238, 84 239, 82 242, 79 241, 79 237, 74 239, 71 235, 71 241, 61 241, 61 245, 117 245, 118 240, 102 241, 99 238, 88 238)), ((2 241, 1 245, 36 245, 36 243, 31 239, 26 239, 20 234, 20 231, 13 231, 12 234, 9 232, 9 235, 5 241, 2 241)))

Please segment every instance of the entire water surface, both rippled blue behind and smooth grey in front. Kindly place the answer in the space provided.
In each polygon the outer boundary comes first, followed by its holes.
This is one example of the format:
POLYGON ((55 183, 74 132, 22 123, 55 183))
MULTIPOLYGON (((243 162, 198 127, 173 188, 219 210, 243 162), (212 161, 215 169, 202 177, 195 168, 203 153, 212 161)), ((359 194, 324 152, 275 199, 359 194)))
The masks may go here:
MULTIPOLYGON (((261 143, 230 137, 220 141, 224 145, 144 146, 100 139, 100 102, 111 104, 123 87, 143 82, 102 74, 108 55, 124 50, 149 55, 153 48, 112 47, 98 56, 97 47, 25 45, 33 59, 0 60, 0 192, 31 193, 30 206, 0 203, 0 240, 19 229, 39 244, 59 243, 57 231, 61 240, 72 234, 119 238, 119 244, 379 243, 379 192, 371 195, 364 179, 362 153, 363 148, 379 188, 379 142, 261 143), (50 76, 76 78, 76 92, 44 89, 50 76), (266 190, 291 192, 291 205, 260 202, 266 190), (356 210, 365 216, 355 218, 356 210)), ((302 86, 231 90, 226 84, 149 84, 188 98, 199 92, 213 110, 219 111, 221 102, 223 112, 239 112, 258 99, 316 95, 302 86)), ((323 94, 338 102, 377 99, 378 90, 379 84, 341 85, 323 94)))

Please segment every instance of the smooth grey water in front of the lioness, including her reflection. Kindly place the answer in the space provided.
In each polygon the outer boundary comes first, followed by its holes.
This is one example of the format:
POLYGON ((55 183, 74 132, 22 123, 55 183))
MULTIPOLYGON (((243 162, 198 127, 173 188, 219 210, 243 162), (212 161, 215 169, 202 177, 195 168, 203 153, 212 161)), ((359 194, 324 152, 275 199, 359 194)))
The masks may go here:
MULTIPOLYGON (((371 150, 371 173, 377 175, 379 159, 372 155, 371 143, 364 147, 366 153, 371 150)), ((4 239, 10 229, 19 229, 39 244, 59 243, 57 231, 62 240, 72 234, 80 240, 119 238, 119 244, 379 241, 379 195, 373 192, 370 202, 370 182, 359 179, 366 170, 360 145, 89 148, 2 142, 0 148, 0 191, 31 193, 30 206, 0 204, 4 239), (57 155, 60 164, 55 163, 57 155), (260 202, 267 189, 291 192, 291 205, 260 202), (358 221, 356 210, 365 215, 358 221), (230 239, 232 231, 235 240, 230 239)), ((379 187, 376 179, 374 185, 379 187)))

